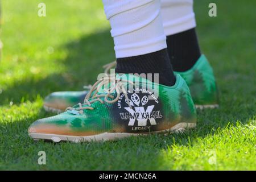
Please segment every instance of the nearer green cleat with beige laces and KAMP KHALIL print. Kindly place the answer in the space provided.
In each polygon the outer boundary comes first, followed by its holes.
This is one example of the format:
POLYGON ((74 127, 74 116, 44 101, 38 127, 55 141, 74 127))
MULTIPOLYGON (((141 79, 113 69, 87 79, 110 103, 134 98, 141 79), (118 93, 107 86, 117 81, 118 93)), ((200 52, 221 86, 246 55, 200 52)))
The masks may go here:
POLYGON ((123 74, 97 81, 83 104, 35 121, 28 135, 34 140, 84 142, 195 126, 195 106, 180 75, 176 75, 174 86, 164 86, 123 74))

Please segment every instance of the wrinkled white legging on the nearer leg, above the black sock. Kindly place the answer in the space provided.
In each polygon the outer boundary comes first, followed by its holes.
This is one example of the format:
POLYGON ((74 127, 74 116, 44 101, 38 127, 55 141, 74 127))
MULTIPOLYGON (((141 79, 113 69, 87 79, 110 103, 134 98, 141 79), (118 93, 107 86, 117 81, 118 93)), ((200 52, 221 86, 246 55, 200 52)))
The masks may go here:
POLYGON ((117 58, 166 48, 160 0, 102 0, 117 58))

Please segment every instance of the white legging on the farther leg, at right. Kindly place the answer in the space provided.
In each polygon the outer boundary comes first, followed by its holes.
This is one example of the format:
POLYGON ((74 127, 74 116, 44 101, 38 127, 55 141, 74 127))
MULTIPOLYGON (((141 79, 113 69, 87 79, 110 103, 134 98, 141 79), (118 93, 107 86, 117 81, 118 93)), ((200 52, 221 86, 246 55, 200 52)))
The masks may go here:
POLYGON ((166 36, 196 27, 193 0, 161 0, 161 14, 166 36))

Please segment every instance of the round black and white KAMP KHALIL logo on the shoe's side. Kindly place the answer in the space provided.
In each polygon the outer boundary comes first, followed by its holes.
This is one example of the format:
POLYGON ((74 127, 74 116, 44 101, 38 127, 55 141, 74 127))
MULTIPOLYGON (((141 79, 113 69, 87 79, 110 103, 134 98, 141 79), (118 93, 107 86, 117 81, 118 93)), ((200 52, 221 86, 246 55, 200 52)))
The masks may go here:
POLYGON ((160 119, 163 118, 158 98, 145 89, 137 89, 133 93, 128 90, 127 96, 129 101, 122 93, 117 102, 118 120, 125 122, 126 130, 129 132, 154 131, 160 119), (148 99, 149 97, 152 99, 148 99))

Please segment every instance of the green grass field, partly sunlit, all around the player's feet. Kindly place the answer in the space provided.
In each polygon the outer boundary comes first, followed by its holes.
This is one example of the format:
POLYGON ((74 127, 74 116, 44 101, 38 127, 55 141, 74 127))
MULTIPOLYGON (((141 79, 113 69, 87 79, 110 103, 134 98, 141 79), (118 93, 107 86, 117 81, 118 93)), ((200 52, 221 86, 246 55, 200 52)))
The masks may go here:
POLYGON ((51 114, 43 98, 80 90, 114 60, 101 1, 3 1, 0 63, 0 169, 256 169, 255 1, 196 1, 202 51, 216 73, 220 109, 198 110, 184 134, 131 137, 105 143, 44 143, 28 126, 51 114), (217 17, 208 16, 210 2, 217 17), (47 164, 38 165, 46 151, 47 164))

